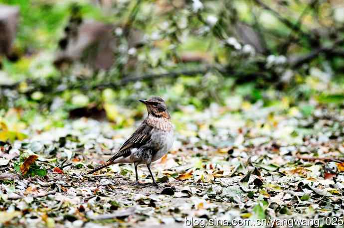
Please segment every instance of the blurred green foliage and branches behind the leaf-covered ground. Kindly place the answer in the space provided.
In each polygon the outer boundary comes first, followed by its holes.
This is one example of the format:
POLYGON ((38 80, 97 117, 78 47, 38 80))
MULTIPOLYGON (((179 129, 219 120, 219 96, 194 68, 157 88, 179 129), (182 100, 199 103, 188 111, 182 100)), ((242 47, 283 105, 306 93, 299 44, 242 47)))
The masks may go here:
POLYGON ((0 2, 2 114, 26 121, 130 124, 121 107, 151 95, 175 112, 268 106, 280 91, 290 105, 344 101, 341 0, 0 2))

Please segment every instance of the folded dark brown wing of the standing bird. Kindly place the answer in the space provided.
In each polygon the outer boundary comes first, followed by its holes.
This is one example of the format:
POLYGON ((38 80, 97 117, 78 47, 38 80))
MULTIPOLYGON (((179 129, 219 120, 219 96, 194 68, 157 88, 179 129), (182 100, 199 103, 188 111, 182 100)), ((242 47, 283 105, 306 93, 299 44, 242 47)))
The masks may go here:
POLYGON ((152 129, 153 126, 144 121, 128 138, 128 140, 123 143, 119 151, 112 158, 110 158, 109 161, 114 161, 116 158, 121 156, 129 156, 131 149, 139 148, 140 146, 146 144, 151 140, 152 129))

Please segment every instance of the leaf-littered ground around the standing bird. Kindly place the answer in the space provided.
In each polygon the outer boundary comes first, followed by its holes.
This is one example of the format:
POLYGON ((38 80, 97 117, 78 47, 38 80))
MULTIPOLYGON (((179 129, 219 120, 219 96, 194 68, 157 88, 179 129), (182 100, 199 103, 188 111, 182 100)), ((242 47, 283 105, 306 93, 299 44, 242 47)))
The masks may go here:
POLYGON ((213 104, 182 113, 172 113, 172 151, 152 166, 158 187, 145 166, 140 186, 131 164, 86 174, 110 158, 140 121, 122 129, 85 117, 46 129, 33 122, 28 138, 1 145, 0 223, 93 228, 193 221, 202 227, 209 219, 257 225, 270 218, 272 226, 276 218, 317 223, 330 217, 328 225, 341 225, 344 115, 337 105, 242 102, 237 111, 213 104), (25 156, 36 155, 36 168, 47 174, 17 174, 19 154, 23 164, 25 156))

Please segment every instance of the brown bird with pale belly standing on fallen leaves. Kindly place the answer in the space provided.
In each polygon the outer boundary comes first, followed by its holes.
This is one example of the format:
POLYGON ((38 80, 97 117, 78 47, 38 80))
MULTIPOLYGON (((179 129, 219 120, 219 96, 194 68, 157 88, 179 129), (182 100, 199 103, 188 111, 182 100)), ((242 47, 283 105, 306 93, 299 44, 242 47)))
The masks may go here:
POLYGON ((89 171, 88 174, 112 164, 133 163, 136 185, 139 185, 137 166, 145 164, 151 174, 153 185, 157 186, 151 171, 151 163, 162 158, 172 148, 174 133, 171 115, 167 110, 165 101, 160 97, 151 97, 148 100, 139 101, 146 105, 147 117, 114 156, 104 164, 89 171))

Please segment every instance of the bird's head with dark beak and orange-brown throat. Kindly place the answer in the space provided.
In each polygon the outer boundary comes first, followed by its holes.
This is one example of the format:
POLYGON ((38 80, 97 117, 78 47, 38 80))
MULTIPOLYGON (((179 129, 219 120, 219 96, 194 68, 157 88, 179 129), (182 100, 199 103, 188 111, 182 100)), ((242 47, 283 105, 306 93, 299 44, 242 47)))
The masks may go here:
POLYGON ((140 102, 146 105, 148 114, 156 117, 171 118, 167 111, 167 106, 162 98, 151 97, 148 100, 140 100, 140 102))

